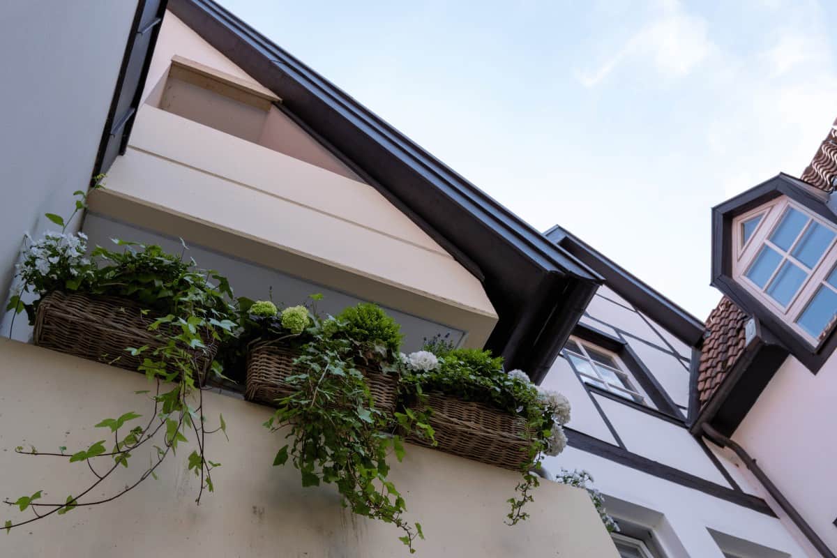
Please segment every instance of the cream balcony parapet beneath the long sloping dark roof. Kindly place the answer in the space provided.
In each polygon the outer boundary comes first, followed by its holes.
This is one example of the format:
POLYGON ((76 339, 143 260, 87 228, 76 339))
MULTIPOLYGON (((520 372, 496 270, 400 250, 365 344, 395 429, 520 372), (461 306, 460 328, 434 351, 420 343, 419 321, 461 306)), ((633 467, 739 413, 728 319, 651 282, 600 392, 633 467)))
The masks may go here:
POLYGON ((496 324, 480 281, 371 187, 148 105, 90 207, 466 330, 467 346, 496 324))

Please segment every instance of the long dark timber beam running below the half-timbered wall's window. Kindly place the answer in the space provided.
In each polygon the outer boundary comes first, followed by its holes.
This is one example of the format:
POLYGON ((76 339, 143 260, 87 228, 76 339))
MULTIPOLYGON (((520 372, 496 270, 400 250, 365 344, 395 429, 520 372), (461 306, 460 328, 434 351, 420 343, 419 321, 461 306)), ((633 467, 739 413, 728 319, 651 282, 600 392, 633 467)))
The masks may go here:
POLYGON ((719 499, 726 500, 732 504, 740 505, 747 509, 752 509, 760 514, 776 517, 773 510, 763 499, 738 492, 734 489, 728 489, 721 484, 713 483, 706 479, 701 479, 696 475, 686 473, 680 469, 670 467, 663 463, 656 462, 649 458, 644 458, 636 453, 631 453, 624 448, 618 448, 611 443, 603 442, 598 438, 593 438, 588 434, 578 432, 569 427, 564 427, 567 433, 567 440, 571 448, 576 448, 583 452, 593 453, 598 457, 608 459, 614 463, 619 463, 625 467, 634 468, 642 471, 645 474, 650 474, 658 479, 664 479, 671 483, 680 484, 686 488, 698 490, 704 494, 709 494, 719 499))

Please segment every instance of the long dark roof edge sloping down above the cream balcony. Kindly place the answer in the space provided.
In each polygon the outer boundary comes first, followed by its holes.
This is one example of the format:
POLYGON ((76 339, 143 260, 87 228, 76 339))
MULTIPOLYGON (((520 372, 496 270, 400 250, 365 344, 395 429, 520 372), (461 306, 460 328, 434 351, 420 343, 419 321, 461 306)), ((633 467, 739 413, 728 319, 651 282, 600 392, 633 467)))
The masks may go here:
POLYGON ((264 37, 251 28, 247 23, 237 18, 225 8, 212 0, 171 0, 170 9, 178 17, 184 4, 203 10, 210 17, 222 21, 232 28, 255 49, 259 50, 266 59, 270 59, 284 72, 293 72, 295 79, 304 84, 314 95, 320 96, 331 105, 335 105, 341 113, 353 120, 355 125, 366 131, 377 143, 386 146, 394 155, 408 160, 417 171, 432 175, 436 180, 444 182, 449 188, 446 195, 485 222, 490 228, 502 231, 504 236, 521 249, 521 253, 540 264, 547 270, 558 270, 578 279, 600 280, 596 274, 586 266, 579 265, 575 259, 567 258, 567 253, 557 250, 555 246, 543 237, 535 228, 517 217, 513 212, 482 192, 474 184, 461 177, 429 152, 410 141, 408 137, 396 130, 392 125, 372 113, 366 107, 353 99, 345 91, 332 84, 329 80, 317 74, 303 64, 299 59, 289 54, 285 49, 264 37))

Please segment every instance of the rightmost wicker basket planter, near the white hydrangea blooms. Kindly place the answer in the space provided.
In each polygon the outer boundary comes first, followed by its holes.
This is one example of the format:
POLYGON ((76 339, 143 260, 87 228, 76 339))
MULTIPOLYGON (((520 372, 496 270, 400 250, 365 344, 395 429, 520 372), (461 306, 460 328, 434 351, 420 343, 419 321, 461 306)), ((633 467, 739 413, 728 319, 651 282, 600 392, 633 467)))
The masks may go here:
MULTIPOLYGON (((516 471, 528 462, 530 442, 526 439, 525 419, 441 393, 430 393, 427 406, 433 409, 430 426, 435 431, 436 449, 516 471)), ((432 447, 415 434, 408 438, 432 447)))

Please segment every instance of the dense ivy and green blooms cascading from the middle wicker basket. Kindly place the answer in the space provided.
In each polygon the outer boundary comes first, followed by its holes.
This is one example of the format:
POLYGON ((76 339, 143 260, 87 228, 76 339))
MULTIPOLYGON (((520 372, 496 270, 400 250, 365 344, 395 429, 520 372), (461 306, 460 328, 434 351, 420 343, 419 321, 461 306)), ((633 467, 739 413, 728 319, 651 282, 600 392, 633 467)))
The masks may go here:
MULTIPOLYGON (((271 311, 263 302, 256 305, 251 310, 271 311)), ((357 305, 325 320, 303 310, 285 309, 269 326, 275 334, 284 333, 277 342, 293 339, 300 350, 295 374, 286 378, 294 392, 264 423, 272 431, 286 429, 291 438, 273 464, 290 460, 303 486, 335 484, 352 513, 395 525, 412 553, 414 540, 424 539, 424 533, 421 524, 404 519, 406 502, 388 479, 389 453, 401 461, 403 440, 388 433, 393 417, 375 407, 363 371, 397 373, 393 353, 401 341, 399 326, 375 305, 357 305)), ((426 423, 408 426, 432 437, 426 423)))

